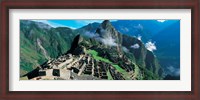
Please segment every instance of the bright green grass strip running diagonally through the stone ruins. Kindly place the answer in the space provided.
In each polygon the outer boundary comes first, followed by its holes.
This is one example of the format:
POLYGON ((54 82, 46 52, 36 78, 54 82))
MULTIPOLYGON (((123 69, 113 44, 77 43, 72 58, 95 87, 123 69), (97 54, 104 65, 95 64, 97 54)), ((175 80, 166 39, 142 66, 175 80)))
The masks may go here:
POLYGON ((96 52, 95 50, 88 50, 87 51, 88 54, 91 54, 93 56, 94 59, 98 60, 98 61, 102 61, 102 62, 106 62, 106 63, 109 63, 111 64, 113 67, 116 68, 116 70, 118 72, 120 72, 123 77, 126 79, 126 80, 130 80, 130 75, 128 72, 126 72, 124 69, 122 69, 119 65, 117 64, 113 64, 109 59, 106 59, 106 58, 102 58, 100 56, 98 56, 98 52, 96 52))

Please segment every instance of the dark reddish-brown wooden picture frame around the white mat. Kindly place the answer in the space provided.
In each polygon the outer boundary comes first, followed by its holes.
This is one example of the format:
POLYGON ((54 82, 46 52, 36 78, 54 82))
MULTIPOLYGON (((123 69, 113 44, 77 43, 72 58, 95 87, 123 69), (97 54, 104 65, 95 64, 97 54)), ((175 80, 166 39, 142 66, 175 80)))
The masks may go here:
POLYGON ((1 1, 0 100, 134 99, 199 100, 199 0, 3 0, 1 1), (9 9, 191 9, 191 91, 9 91, 9 9))

